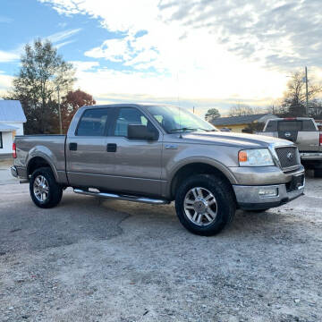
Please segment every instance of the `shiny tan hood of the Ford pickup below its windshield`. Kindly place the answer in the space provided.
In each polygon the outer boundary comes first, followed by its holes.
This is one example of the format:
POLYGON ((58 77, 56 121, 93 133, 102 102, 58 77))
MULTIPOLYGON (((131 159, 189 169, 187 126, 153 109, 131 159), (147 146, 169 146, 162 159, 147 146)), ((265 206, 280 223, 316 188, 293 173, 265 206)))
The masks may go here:
POLYGON ((241 148, 267 148, 271 144, 275 145, 292 145, 288 140, 276 139, 273 137, 233 133, 233 132, 186 132, 177 135, 181 140, 189 143, 198 144, 216 144, 241 148))

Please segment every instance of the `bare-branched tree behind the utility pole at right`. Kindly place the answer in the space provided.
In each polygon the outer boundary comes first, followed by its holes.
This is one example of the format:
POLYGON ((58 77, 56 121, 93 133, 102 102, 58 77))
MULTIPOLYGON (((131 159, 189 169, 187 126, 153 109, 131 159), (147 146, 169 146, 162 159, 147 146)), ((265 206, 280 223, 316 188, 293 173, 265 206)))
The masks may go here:
MULTIPOLYGON (((321 85, 308 80, 308 98, 313 99, 322 91, 321 85)), ((306 116, 306 86, 305 73, 293 72, 291 80, 287 83, 281 104, 281 116, 306 116)))

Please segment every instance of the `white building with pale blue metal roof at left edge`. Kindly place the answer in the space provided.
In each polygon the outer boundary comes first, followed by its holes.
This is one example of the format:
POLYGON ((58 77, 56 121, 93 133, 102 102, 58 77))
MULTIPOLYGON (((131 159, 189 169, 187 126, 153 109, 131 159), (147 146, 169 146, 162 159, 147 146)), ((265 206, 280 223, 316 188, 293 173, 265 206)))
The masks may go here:
POLYGON ((20 101, 0 100, 0 158, 12 155, 14 136, 23 135, 26 122, 20 101))

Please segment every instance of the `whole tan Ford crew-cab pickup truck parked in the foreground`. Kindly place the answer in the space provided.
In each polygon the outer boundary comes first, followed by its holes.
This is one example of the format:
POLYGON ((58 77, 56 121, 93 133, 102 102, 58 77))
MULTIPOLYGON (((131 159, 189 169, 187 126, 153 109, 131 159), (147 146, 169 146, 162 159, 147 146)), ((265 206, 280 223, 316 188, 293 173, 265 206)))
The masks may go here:
POLYGON ((67 135, 16 136, 12 174, 39 208, 66 187, 107 199, 168 204, 192 233, 219 233, 236 208, 263 211, 304 190, 298 148, 288 140, 217 131, 184 108, 83 106, 67 135))

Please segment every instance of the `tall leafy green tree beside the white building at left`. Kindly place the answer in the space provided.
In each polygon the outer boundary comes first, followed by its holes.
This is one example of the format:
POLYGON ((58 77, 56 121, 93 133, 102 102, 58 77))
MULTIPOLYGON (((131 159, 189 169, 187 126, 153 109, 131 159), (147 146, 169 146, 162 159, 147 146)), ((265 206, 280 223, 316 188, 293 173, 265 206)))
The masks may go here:
POLYGON ((13 79, 13 89, 4 99, 19 99, 27 117, 26 134, 56 131, 57 87, 61 95, 72 89, 72 64, 64 62, 53 45, 40 38, 27 44, 21 55, 21 69, 13 79))

